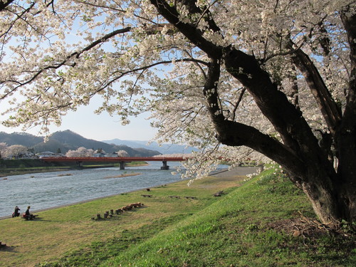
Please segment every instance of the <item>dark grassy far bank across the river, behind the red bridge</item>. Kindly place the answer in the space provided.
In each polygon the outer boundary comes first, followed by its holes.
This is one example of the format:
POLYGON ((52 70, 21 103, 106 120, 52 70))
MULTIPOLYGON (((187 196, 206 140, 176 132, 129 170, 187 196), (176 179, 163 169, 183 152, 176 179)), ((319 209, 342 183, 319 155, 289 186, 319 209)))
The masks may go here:
MULTIPOLYGON (((147 162, 127 162, 127 167, 143 166, 147 162)), ((59 172, 70 169, 93 169, 103 167, 120 167, 117 163, 94 162, 78 166, 75 162, 42 162, 41 159, 0 159, 0 177, 36 172, 59 172)))

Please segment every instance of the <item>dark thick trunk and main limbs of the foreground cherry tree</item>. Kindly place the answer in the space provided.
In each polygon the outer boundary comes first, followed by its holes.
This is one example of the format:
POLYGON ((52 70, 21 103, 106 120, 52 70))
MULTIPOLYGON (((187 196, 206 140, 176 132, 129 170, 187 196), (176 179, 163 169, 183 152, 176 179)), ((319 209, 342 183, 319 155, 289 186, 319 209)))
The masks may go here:
MULTIPOLYGON (((290 174, 292 182, 303 189, 313 204, 315 214, 321 221, 336 226, 342 219, 355 221, 355 175, 356 175, 356 57, 351 56, 352 84, 347 108, 343 117, 331 98, 318 69, 302 51, 295 54, 295 64, 306 75, 308 85, 328 122, 330 132, 340 161, 337 172, 328 159, 330 145, 320 145, 313 130, 303 117, 303 113, 288 101, 278 90, 270 75, 261 68, 254 56, 239 51, 233 46, 221 47, 204 38, 204 31, 194 23, 184 23, 179 19, 176 6, 164 0, 151 0, 159 14, 172 23, 189 41, 204 51, 211 59, 209 73, 204 85, 206 108, 216 129, 217 139, 229 146, 246 145, 261 152, 282 165, 290 174), (263 134, 254 127, 227 120, 219 104, 220 68, 226 70, 253 96, 263 115, 270 120, 281 136, 281 141, 263 134), (340 121, 341 120, 341 121, 340 121), (328 148, 328 150, 326 149, 328 148), (355 166, 355 167, 354 167, 355 166)), ((206 20, 210 31, 220 34, 209 9, 200 10, 195 1, 184 1, 191 14, 200 14, 206 20), (202 15, 206 16, 202 16, 202 15)), ((345 29, 350 34, 351 55, 355 55, 356 17, 342 14, 345 29)), ((330 143, 331 144, 331 143, 330 143)))

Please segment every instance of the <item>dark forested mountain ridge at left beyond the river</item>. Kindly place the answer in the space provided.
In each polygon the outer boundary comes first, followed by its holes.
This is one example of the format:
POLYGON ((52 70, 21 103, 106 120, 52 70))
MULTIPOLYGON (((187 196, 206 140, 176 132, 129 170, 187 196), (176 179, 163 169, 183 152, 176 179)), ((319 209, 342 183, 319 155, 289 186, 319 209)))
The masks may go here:
POLYGON ((110 145, 106 142, 87 139, 70 130, 54 132, 47 142, 43 142, 43 140, 43 137, 36 137, 24 132, 14 132, 11 134, 0 132, 0 142, 6 142, 7 145, 24 145, 33 149, 35 153, 44 151, 57 152, 58 149, 62 153, 66 153, 68 150, 77 150, 78 147, 85 147, 93 150, 101 148, 107 153, 125 150, 130 157, 151 157, 160 154, 158 151, 148 150, 142 148, 142 146, 132 148, 127 145, 110 145))

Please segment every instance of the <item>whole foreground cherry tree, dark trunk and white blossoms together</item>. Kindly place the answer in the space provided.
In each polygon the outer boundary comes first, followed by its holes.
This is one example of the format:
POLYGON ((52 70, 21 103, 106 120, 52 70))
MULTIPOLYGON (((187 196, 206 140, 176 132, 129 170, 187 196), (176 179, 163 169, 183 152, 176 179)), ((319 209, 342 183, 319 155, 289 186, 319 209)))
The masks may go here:
POLYGON ((352 0, 0 1, 0 100, 11 105, 2 123, 46 132, 100 95, 95 112, 126 124, 150 111, 158 140, 201 147, 206 164, 278 162, 321 221, 352 222, 355 9, 352 0))

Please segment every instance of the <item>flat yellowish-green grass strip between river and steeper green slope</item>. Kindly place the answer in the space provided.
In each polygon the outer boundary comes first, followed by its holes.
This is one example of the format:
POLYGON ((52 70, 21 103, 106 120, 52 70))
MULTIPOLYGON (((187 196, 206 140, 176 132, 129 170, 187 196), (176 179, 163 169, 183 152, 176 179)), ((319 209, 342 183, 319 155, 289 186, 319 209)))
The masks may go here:
POLYGON ((191 187, 187 187, 187 181, 174 182, 151 188, 150 192, 145 188, 56 209, 33 211, 38 214, 38 219, 34 221, 21 218, 1 220, 0 229, 6 229, 6 232, 1 231, 0 241, 9 247, 0 251, 0 266, 35 266, 80 246, 88 246, 93 241, 108 240, 109 236, 120 235, 122 231, 179 221, 217 201, 214 193, 224 191, 227 194, 242 179, 235 175, 224 179, 214 176, 198 181, 191 187), (151 197, 142 196, 147 194, 151 197), (96 214, 103 216, 105 211, 135 202, 141 202, 144 206, 108 220, 91 219, 96 214), (16 257, 12 256, 11 251, 16 251, 16 257))

